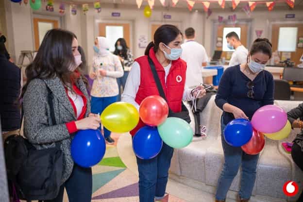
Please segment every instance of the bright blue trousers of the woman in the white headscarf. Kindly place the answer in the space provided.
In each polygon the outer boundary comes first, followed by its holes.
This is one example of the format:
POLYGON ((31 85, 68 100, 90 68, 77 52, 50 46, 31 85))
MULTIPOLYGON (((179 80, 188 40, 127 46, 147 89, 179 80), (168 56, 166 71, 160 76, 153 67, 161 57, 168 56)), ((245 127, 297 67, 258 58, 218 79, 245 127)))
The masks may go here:
MULTIPOLYGON (((97 97, 91 97, 91 109, 90 112, 93 114, 102 114, 103 110, 110 104, 116 102, 118 99, 118 96, 113 96, 113 97, 102 97, 102 98, 97 98, 97 97)), ((101 127, 99 128, 101 130, 101 127)), ((109 137, 111 132, 107 130, 104 127, 104 137, 109 137)))

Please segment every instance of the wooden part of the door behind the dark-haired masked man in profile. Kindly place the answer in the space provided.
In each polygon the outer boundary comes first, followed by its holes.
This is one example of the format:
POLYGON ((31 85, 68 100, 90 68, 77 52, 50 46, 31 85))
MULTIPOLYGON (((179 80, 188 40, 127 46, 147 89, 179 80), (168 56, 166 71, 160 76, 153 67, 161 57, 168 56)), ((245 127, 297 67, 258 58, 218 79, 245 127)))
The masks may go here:
MULTIPOLYGON (((218 32, 217 35, 218 37, 223 38, 223 29, 224 27, 240 27, 241 28, 241 36, 240 36, 240 41, 243 46, 246 48, 248 47, 247 45, 247 34, 248 34, 248 25, 247 24, 236 24, 235 26, 233 25, 226 25, 226 24, 221 24, 218 26, 218 32)), ((222 50, 222 47, 216 47, 216 50, 222 50)), ((223 51, 221 57, 225 57, 228 59, 227 54, 231 56, 232 52, 227 53, 227 51, 223 51)))

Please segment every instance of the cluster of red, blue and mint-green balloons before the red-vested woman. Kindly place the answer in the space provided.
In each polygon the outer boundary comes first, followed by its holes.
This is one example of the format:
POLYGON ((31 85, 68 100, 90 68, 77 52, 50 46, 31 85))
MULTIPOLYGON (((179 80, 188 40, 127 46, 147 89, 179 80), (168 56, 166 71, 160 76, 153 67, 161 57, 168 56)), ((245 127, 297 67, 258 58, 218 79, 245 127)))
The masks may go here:
POLYGON ((133 138, 134 152, 141 159, 158 155, 163 142, 172 148, 183 148, 193 138, 193 131, 185 120, 168 118, 168 104, 160 96, 145 98, 140 104, 139 115, 147 125, 138 130, 133 138))

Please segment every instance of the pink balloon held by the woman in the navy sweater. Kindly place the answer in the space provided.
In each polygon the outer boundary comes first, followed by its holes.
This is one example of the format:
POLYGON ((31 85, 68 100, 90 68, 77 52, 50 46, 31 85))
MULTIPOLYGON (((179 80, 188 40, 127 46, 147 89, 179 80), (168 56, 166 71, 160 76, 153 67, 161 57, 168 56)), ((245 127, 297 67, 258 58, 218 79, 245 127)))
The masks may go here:
POLYGON ((258 109, 252 118, 253 128, 262 133, 276 133, 284 128, 286 112, 277 105, 265 105, 258 109))

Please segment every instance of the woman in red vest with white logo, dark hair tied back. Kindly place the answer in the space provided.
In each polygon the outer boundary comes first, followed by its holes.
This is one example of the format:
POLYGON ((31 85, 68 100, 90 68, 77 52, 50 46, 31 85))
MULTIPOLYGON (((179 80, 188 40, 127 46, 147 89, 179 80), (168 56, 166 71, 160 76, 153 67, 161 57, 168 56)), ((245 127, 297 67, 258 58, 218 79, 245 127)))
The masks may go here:
MULTIPOLYGON (((193 99, 193 89, 185 88, 186 63, 180 59, 182 49, 182 34, 173 25, 162 25, 159 27, 151 42, 145 50, 145 55, 135 60, 129 73, 122 101, 132 103, 137 109, 143 99, 151 95, 159 95, 154 82, 148 57, 152 59, 160 82, 163 86, 169 108, 177 113, 181 112, 182 101, 193 99)), ((206 91, 203 86, 196 89, 201 90, 198 98, 202 98, 206 91)), ((137 127, 131 131, 135 133, 145 124, 140 120, 137 127)), ((140 202, 167 202, 164 197, 168 182, 168 169, 173 154, 173 148, 163 143, 161 152, 152 159, 143 160, 137 158, 139 171, 139 198, 140 202)))

